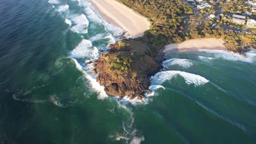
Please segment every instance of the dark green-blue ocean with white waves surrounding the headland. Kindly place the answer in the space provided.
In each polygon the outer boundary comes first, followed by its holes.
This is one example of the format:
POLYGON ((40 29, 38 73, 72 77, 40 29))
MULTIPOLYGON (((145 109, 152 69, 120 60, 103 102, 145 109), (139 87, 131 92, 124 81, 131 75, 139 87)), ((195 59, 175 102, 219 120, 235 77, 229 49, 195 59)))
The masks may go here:
POLYGON ((256 51, 170 53, 118 100, 85 63, 120 33, 88 0, 2 0, 0 143, 256 143, 256 51))

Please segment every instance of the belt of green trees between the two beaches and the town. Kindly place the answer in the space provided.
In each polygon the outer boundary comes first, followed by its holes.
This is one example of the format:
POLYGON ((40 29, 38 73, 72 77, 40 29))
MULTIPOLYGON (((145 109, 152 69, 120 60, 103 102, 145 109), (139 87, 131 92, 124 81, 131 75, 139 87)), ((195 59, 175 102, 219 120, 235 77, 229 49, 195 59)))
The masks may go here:
POLYGON ((226 41, 229 50, 238 53, 247 51, 249 47, 255 47, 255 35, 236 34, 220 26, 212 26, 213 22, 205 21, 203 17, 202 23, 185 22, 184 16, 193 17, 194 14, 193 10, 181 0, 118 1, 152 20, 152 27, 138 40, 153 46, 152 50, 155 52, 162 49, 165 44, 198 38, 222 38, 226 41))

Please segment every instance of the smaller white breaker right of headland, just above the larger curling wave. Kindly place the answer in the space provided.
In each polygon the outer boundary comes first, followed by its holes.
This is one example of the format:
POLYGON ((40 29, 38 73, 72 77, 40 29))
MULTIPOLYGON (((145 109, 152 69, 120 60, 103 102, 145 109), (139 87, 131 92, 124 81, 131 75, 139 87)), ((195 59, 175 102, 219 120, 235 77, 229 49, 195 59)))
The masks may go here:
POLYGON ((190 62, 188 59, 179 58, 172 58, 162 62, 162 66, 164 66, 165 69, 173 65, 179 65, 183 68, 190 68, 193 65, 193 63, 190 62))

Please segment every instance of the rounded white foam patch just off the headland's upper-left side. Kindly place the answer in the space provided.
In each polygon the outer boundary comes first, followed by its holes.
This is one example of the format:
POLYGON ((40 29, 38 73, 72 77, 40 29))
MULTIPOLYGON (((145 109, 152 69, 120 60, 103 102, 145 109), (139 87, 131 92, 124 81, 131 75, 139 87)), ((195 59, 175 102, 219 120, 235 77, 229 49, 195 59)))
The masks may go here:
POLYGON ((90 40, 83 39, 74 50, 71 51, 74 58, 91 58, 97 59, 98 49, 93 47, 90 40))

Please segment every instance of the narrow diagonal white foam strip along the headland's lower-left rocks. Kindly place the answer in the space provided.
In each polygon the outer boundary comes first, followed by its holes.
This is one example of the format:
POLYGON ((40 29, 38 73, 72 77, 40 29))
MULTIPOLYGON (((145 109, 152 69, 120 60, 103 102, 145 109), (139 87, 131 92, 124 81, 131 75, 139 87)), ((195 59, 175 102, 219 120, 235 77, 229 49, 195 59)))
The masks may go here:
POLYGON ((107 98, 108 95, 104 91, 104 87, 101 86, 100 83, 98 83, 95 79, 96 75, 89 75, 88 73, 85 72, 82 65, 80 65, 76 59, 74 59, 74 58, 72 58, 72 59, 75 62, 75 65, 76 65, 77 69, 80 70, 84 74, 84 76, 86 77, 87 80, 89 80, 91 88, 94 89, 94 91, 97 92, 98 99, 107 98))

